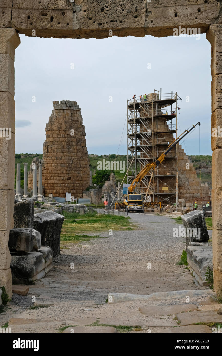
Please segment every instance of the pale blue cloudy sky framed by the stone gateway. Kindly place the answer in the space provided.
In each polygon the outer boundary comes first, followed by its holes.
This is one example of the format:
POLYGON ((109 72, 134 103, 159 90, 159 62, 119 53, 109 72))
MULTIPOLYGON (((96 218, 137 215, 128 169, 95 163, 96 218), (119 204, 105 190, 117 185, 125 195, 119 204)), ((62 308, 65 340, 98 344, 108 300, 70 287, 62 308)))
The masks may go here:
MULTIPOLYGON (((205 34, 199 40, 20 39, 15 52, 16 153, 42 153, 52 101, 75 100, 88 153, 127 154, 127 99, 162 88, 162 93, 177 91, 182 98, 178 134, 200 121, 201 155, 212 154, 211 46, 205 34)), ((199 155, 199 129, 182 148, 188 155, 199 155)))

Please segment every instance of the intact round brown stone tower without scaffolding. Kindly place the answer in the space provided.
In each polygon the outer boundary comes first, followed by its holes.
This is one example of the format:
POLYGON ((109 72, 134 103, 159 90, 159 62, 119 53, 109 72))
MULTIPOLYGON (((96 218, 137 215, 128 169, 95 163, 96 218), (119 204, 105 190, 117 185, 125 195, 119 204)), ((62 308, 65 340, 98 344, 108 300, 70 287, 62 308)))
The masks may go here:
POLYGON ((42 185, 44 193, 82 198, 89 186, 90 167, 85 126, 76 101, 53 101, 43 144, 42 185))

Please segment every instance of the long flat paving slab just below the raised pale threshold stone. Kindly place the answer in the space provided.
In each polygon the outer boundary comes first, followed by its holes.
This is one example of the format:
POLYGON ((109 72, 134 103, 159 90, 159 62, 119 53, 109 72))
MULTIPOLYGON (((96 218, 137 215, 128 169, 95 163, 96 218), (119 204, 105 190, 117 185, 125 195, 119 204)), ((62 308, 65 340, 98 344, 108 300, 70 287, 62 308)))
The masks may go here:
POLYGON ((196 305, 186 304, 186 305, 166 305, 158 307, 140 307, 139 311, 144 315, 172 315, 181 312, 190 312, 197 310, 196 305))

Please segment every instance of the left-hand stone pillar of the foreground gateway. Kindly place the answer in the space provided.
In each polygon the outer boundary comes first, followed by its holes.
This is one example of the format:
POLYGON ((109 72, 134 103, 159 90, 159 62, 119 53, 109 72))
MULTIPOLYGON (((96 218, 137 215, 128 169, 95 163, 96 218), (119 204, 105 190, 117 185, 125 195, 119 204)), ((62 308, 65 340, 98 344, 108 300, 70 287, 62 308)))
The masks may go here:
POLYGON ((11 255, 8 241, 13 228, 15 189, 15 101, 14 60, 20 38, 12 28, 0 28, 0 287, 11 298, 11 255))

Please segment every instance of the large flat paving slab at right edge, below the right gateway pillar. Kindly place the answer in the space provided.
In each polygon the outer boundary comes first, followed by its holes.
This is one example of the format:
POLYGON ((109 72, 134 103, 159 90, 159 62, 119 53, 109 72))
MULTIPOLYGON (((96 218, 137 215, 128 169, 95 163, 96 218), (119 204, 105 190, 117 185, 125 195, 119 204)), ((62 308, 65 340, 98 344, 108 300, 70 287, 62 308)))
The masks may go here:
POLYGON ((180 313, 176 315, 180 321, 180 325, 191 325, 196 323, 222 323, 222 315, 217 314, 215 311, 202 311, 180 313))

